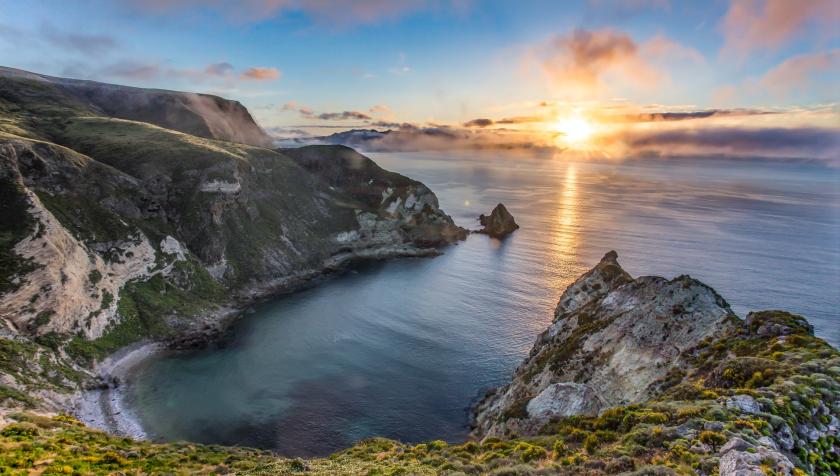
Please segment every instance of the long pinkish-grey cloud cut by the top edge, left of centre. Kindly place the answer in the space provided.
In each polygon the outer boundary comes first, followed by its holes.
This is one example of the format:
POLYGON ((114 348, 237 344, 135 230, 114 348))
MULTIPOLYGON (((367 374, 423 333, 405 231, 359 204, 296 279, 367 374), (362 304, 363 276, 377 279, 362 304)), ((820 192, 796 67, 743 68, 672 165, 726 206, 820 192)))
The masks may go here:
POLYGON ((374 24, 438 9, 454 12, 469 7, 465 0, 122 0, 136 10, 155 15, 212 10, 237 21, 260 21, 287 12, 302 12, 316 23, 338 27, 374 24))

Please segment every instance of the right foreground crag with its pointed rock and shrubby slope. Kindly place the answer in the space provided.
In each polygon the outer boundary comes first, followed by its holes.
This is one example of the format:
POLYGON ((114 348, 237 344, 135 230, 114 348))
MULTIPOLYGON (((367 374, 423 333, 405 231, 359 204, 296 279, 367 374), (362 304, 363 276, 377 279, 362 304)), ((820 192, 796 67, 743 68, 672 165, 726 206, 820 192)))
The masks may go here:
POLYGON ((474 435, 554 438, 568 474, 838 474, 838 364, 800 316, 741 320, 708 286, 634 279, 610 252, 476 406, 474 435))

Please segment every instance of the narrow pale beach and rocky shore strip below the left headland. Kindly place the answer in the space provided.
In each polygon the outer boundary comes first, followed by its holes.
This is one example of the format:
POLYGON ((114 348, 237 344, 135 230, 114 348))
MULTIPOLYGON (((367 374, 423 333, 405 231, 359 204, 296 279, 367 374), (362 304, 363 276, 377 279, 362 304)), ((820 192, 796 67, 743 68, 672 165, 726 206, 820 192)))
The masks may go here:
POLYGON ((277 278, 240 294, 222 308, 210 312, 213 325, 191 329, 171 341, 140 341, 130 344, 98 362, 93 374, 102 381, 98 388, 81 389, 74 398, 71 413, 85 425, 107 433, 145 440, 149 434, 139 418, 125 404, 126 389, 131 385, 128 376, 144 361, 173 351, 197 348, 221 338, 227 328, 249 307, 305 289, 310 283, 349 269, 354 261, 385 261, 393 258, 430 258, 443 254, 439 248, 419 248, 406 245, 386 245, 334 255, 319 269, 309 269, 277 278))

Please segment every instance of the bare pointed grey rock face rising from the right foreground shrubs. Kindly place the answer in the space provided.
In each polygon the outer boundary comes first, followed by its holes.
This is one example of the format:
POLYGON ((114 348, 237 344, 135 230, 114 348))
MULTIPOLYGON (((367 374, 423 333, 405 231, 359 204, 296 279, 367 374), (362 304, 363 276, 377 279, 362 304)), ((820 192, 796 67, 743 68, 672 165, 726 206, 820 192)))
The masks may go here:
POLYGON ((566 289, 513 381, 477 406, 476 436, 537 434, 556 416, 645 400, 685 365, 684 352, 733 325, 710 287, 688 276, 633 279, 617 258, 607 253, 566 289))

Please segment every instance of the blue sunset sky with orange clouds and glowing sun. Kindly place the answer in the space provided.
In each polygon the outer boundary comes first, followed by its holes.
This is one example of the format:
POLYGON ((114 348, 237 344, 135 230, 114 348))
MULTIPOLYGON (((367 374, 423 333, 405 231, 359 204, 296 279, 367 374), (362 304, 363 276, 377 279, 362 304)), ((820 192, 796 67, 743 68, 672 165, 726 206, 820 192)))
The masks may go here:
POLYGON ((277 137, 837 158, 838 24, 836 0, 0 0, 0 65, 217 94, 277 137))

